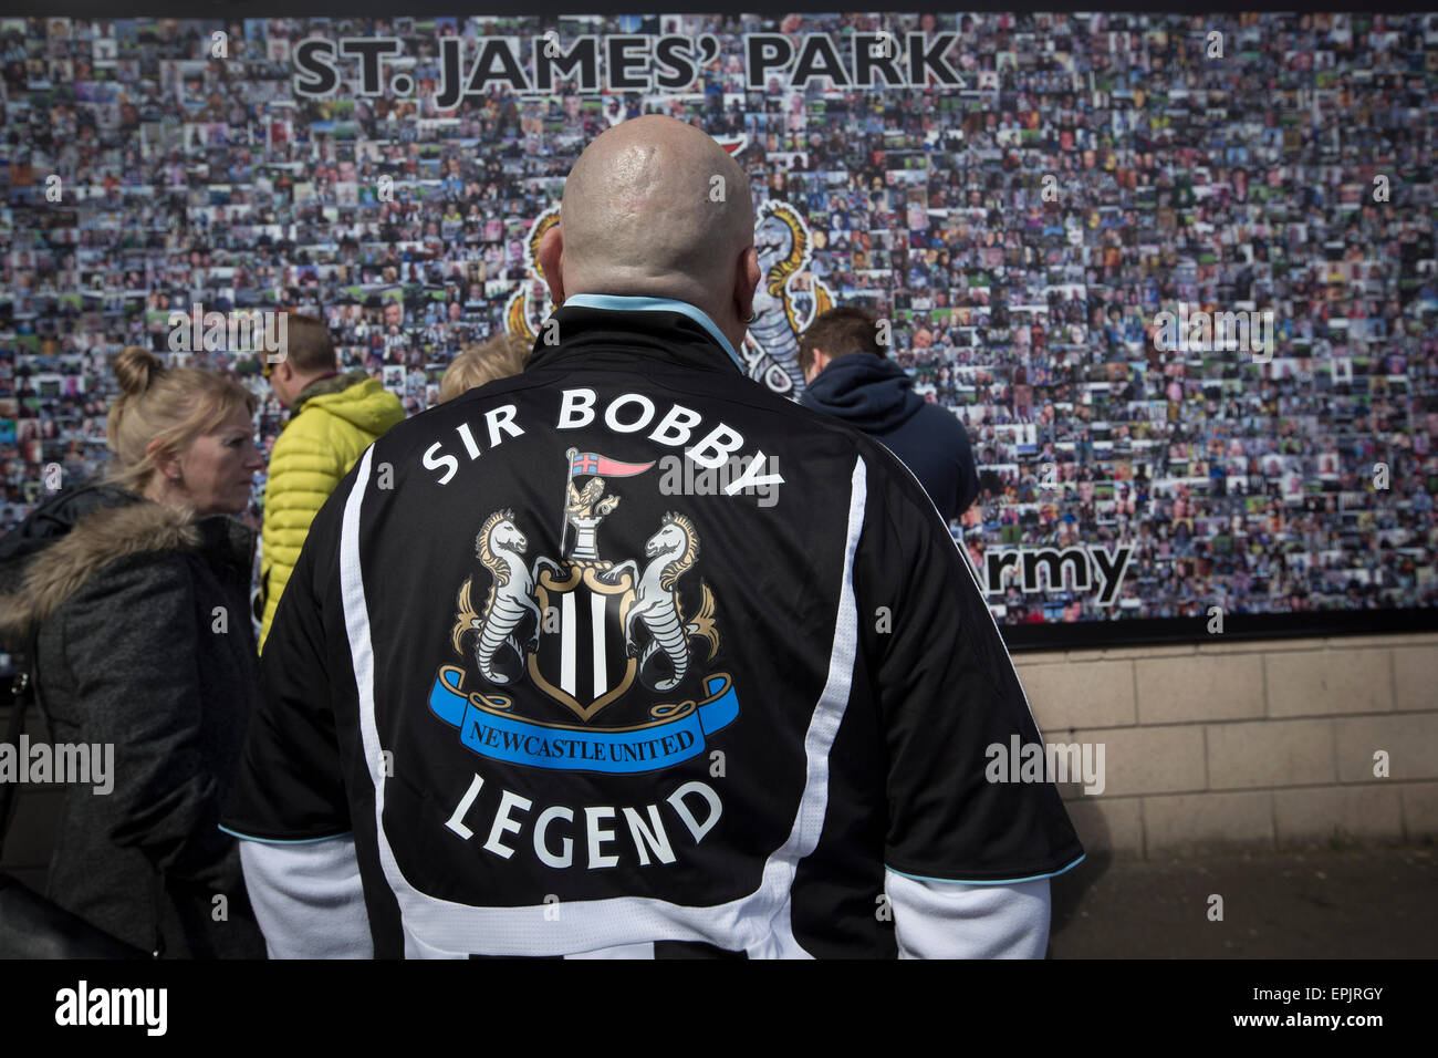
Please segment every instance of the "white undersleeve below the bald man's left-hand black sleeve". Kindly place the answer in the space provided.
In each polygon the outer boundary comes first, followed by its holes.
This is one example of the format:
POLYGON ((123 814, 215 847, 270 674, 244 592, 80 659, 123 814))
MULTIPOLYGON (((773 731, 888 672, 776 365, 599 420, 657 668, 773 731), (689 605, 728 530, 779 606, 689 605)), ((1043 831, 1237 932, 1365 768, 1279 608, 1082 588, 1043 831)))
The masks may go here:
POLYGON ((270 959, 372 959, 354 835, 240 842, 244 887, 270 959))

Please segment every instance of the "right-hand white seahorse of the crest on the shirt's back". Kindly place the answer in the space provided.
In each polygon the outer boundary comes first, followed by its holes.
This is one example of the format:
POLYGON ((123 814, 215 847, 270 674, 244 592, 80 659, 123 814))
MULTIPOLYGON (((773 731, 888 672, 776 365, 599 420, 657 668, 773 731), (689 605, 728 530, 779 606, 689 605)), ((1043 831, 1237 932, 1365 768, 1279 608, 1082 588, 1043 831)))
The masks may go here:
POLYGON ((715 600, 707 584, 700 586, 699 613, 686 620, 679 597, 679 579, 695 564, 699 554, 699 534, 689 518, 682 514, 666 514, 659 531, 644 544, 644 556, 650 560, 643 573, 630 560, 600 576, 601 580, 617 580, 626 570, 637 574, 634 605, 624 619, 624 651, 628 656, 638 655, 640 679, 656 691, 670 691, 683 682, 689 672, 689 641, 700 638, 709 643, 709 658, 719 649, 719 630, 715 628, 715 600), (636 622, 650 635, 650 642, 640 652, 636 636, 636 622), (667 661, 667 672, 659 661, 667 661))

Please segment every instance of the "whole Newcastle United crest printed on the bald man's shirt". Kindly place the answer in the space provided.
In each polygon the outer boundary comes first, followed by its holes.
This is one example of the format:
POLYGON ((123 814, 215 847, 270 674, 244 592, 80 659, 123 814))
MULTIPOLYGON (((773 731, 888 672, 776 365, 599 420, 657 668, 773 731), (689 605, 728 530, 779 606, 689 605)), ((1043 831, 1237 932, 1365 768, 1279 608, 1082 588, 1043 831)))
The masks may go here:
POLYGON ((608 481, 654 464, 575 449, 567 456, 561 557, 531 560, 513 511, 485 520, 475 556, 489 592, 476 606, 476 577, 459 586, 450 646, 463 664, 440 668, 430 708, 460 728, 469 749, 498 760, 594 772, 677 764, 702 753, 705 736, 739 708, 728 674, 702 672, 720 638, 713 593, 695 571, 699 533, 670 512, 643 559, 605 559, 601 525, 621 502, 607 494, 608 481), (582 488, 578 478, 588 478, 582 488), (571 723, 516 717, 516 697, 503 691, 525 681, 571 723), (650 700, 647 720, 601 725, 601 714, 630 694, 650 700))

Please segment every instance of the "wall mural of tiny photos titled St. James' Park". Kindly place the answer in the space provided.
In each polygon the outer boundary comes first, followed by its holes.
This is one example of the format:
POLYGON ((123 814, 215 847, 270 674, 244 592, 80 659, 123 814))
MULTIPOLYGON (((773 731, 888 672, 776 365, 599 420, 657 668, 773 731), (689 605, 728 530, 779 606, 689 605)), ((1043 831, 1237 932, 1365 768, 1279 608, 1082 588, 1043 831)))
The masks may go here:
POLYGON ((4 528, 104 471, 127 344, 244 380, 272 445, 244 309, 429 407, 548 315, 582 147, 669 114, 751 177, 751 374, 797 396, 798 334, 864 305, 966 426, 951 531, 1011 641, 1438 613, 1435 14, 13 17, 0 53, 4 528))

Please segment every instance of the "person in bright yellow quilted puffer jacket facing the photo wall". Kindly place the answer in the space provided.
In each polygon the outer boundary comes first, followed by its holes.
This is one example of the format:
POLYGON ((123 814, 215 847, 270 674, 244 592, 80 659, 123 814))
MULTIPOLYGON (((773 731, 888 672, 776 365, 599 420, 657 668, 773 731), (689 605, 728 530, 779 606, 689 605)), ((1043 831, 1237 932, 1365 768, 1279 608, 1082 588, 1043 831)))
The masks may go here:
POLYGON ((364 451, 404 419, 400 399, 365 371, 339 373, 324 322, 290 314, 286 356, 265 363, 275 397, 290 409, 270 453, 260 560, 263 652, 279 597, 305 546, 309 523, 364 451))

